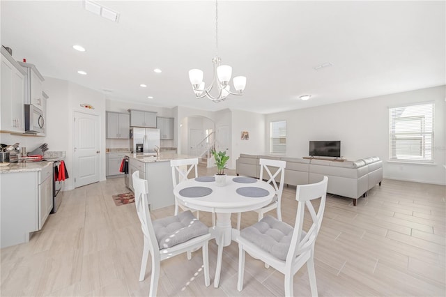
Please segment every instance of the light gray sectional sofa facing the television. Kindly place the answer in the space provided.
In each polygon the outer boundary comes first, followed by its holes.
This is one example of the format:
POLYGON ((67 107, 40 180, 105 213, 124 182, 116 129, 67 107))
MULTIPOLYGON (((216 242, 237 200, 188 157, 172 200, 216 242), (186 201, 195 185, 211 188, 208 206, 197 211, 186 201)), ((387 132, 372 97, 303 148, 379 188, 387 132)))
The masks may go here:
POLYGON ((322 181, 328 176, 327 192, 349 197, 356 206, 357 199, 383 181, 383 161, 378 157, 356 161, 337 162, 331 160, 285 158, 270 155, 240 154, 236 161, 237 175, 260 177, 259 159, 286 161, 285 181, 287 185, 305 185, 322 181))

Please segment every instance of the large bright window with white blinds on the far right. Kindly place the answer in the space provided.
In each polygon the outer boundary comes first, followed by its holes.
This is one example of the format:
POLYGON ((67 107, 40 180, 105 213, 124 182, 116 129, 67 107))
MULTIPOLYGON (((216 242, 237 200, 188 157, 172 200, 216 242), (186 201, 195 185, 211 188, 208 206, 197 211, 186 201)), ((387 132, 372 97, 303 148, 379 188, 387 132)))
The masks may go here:
POLYGON ((390 161, 433 162, 433 103, 389 109, 390 161))

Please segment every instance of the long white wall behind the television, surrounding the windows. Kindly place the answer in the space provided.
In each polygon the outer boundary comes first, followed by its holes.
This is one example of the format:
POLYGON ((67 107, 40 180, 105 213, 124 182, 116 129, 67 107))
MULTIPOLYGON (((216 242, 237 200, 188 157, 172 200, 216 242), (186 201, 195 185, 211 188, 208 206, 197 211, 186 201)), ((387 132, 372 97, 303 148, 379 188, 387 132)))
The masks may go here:
MULTIPOLYGON (((317 100, 313 98, 312 100, 317 100)), ((377 155, 385 178, 446 184, 445 86, 365 98, 266 115, 265 148, 269 150, 271 121, 286 120, 286 155, 308 155, 310 140, 341 140, 341 155, 357 160, 377 155), (434 165, 388 162, 389 107, 434 101, 434 165)), ((250 152, 247 152, 250 153, 250 152)), ((266 151, 268 153, 268 151, 266 151)))

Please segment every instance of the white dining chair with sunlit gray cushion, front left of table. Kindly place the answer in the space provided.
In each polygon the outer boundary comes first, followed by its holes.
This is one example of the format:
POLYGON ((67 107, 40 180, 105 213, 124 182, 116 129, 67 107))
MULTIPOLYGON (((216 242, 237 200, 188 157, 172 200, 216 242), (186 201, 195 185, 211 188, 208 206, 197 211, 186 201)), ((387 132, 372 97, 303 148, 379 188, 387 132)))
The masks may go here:
POLYGON ((134 201, 144 236, 139 281, 145 278, 149 253, 152 259, 151 288, 148 295, 157 295, 160 261, 199 248, 203 250, 204 284, 208 287, 210 284, 208 243, 211 238, 208 227, 195 218, 190 211, 152 221, 148 210, 148 199, 150 199, 148 183, 139 178, 139 171, 134 172, 132 178, 134 201))

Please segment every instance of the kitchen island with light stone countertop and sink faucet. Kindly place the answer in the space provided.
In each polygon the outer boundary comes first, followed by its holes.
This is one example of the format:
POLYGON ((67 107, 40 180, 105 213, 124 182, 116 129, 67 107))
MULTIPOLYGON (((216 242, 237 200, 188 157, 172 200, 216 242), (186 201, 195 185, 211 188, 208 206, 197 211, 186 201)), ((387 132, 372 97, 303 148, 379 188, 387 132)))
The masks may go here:
POLYGON ((162 152, 158 157, 132 153, 128 157, 129 188, 134 191, 132 174, 139 171, 139 178, 148 181, 148 204, 151 210, 175 204, 170 161, 197 158, 172 152, 162 152))

